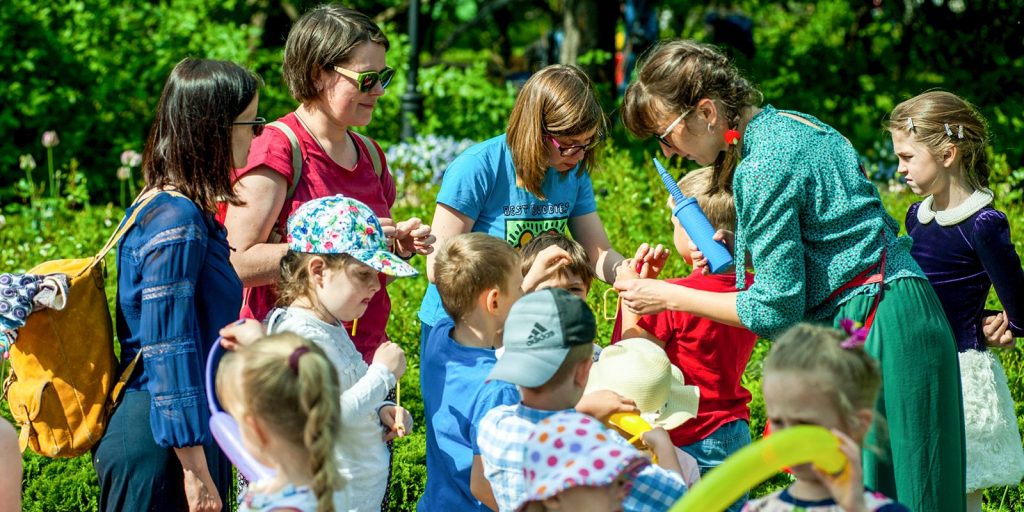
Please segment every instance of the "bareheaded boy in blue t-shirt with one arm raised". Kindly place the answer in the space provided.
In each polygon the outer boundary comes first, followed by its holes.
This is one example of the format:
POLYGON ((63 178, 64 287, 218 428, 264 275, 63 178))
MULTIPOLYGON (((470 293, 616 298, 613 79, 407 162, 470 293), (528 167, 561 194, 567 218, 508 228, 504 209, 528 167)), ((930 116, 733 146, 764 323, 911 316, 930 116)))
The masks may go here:
MULTIPOLYGON (((437 253, 434 281, 451 318, 438 323, 420 347, 427 425, 427 484, 416 507, 420 512, 489 510, 470 490, 473 460, 480 453, 476 429, 493 408, 518 403, 519 391, 508 382, 485 380, 498 360, 495 350, 502 346, 512 303, 567 264, 568 254, 553 247, 537 262, 523 276, 515 251, 479 232, 460 234, 437 253)), ((489 498, 489 492, 481 495, 489 498)))

